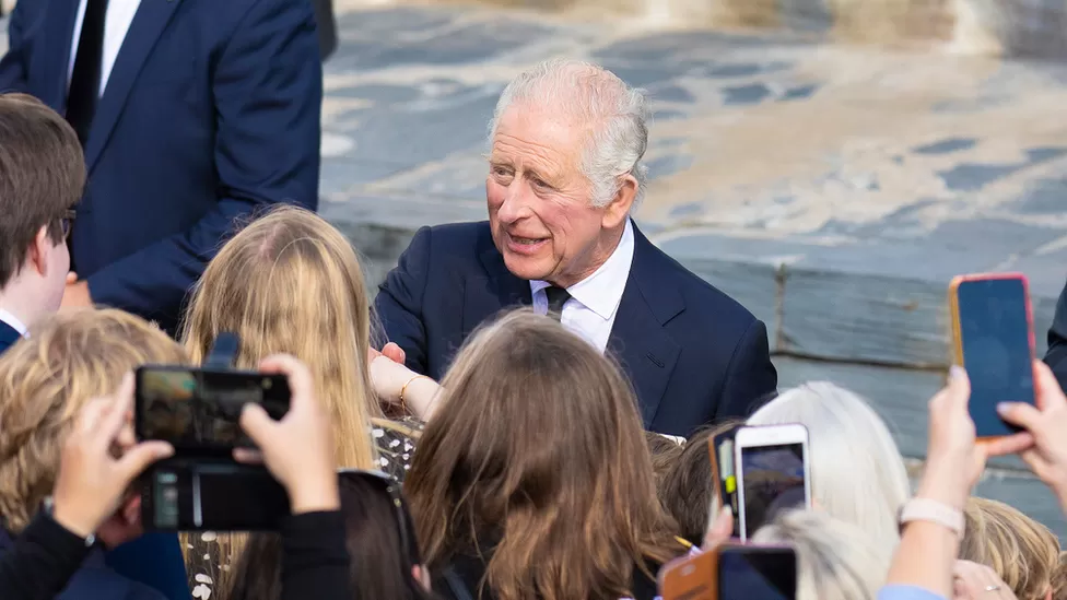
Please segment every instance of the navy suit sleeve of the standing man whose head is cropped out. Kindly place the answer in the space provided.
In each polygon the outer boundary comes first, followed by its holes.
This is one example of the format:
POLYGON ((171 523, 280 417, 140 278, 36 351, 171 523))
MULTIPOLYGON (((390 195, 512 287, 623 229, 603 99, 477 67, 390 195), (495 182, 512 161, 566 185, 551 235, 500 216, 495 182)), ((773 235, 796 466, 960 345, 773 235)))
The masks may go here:
POLYGON ((219 201, 189 230, 89 278, 98 304, 177 316, 235 219, 318 207, 323 68, 310 2, 251 3, 214 69, 219 201))

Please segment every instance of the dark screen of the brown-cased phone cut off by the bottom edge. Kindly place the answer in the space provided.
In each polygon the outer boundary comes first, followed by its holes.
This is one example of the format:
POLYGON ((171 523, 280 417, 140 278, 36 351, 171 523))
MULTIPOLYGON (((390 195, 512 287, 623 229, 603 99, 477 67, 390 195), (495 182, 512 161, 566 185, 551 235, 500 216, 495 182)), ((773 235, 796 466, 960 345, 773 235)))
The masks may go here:
POLYGON ((718 556, 719 600, 793 600, 797 555, 790 548, 724 548, 718 556))

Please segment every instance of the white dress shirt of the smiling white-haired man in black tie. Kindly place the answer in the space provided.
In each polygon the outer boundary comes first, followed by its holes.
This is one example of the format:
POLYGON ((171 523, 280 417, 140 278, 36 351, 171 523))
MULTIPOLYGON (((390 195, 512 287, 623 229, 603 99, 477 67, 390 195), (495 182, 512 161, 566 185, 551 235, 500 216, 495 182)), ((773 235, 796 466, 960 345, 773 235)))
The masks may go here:
MULTIPOLYGON (((615 322, 615 313, 619 311, 619 303, 622 302, 622 293, 626 290, 626 281, 630 279, 633 251, 633 224, 628 220, 626 227, 622 231, 622 239, 619 240, 619 245, 608 260, 591 275, 567 287, 571 297, 563 305, 560 322, 588 340, 600 352, 608 348, 608 338, 611 337, 611 327, 615 322)), ((538 315, 546 315, 549 311, 549 298, 544 294, 544 289, 551 285, 547 281, 530 282, 534 311, 538 315)))

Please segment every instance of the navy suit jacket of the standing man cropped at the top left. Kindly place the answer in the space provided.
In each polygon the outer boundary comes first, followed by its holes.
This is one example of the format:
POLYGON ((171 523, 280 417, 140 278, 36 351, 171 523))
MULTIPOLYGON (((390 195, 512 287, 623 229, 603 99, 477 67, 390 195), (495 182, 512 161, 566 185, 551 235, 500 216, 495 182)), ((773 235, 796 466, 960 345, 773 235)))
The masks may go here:
MULTIPOLYGON (((15 5, 0 91, 66 113, 78 5, 15 5)), ((316 208, 321 99, 309 1, 142 1, 84 149, 71 259, 93 299, 173 330, 235 217, 316 208)))

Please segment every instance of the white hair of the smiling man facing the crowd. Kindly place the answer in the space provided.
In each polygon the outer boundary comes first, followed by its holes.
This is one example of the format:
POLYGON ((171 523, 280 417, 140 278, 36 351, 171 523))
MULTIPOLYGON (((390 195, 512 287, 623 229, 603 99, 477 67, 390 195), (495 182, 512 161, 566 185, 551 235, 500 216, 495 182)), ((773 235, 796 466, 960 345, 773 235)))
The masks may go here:
POLYGON ((582 154, 582 172, 593 186, 591 203, 605 207, 621 187, 620 177, 637 180, 635 209, 645 195, 648 167, 641 163, 648 148, 648 107, 645 91, 626 85, 614 73, 568 59, 541 62, 520 73, 501 93, 490 123, 489 143, 504 113, 515 104, 528 104, 558 113, 575 122, 593 126, 582 154))

